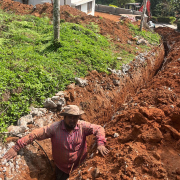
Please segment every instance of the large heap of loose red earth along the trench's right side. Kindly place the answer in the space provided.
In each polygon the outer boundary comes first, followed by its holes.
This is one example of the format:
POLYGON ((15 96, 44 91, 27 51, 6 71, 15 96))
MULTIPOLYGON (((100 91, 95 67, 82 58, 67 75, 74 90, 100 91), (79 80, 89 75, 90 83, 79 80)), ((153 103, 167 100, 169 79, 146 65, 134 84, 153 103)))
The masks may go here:
POLYGON ((162 70, 109 118, 110 153, 92 152, 70 179, 180 179, 180 33, 156 31, 169 51, 162 70))

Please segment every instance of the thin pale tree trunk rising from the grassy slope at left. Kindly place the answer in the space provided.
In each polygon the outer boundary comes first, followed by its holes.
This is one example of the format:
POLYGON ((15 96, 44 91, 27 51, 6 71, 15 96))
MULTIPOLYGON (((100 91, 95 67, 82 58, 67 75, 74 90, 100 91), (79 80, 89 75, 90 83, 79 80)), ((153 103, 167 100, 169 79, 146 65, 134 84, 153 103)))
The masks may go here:
POLYGON ((53 26, 54 26, 54 42, 58 42, 60 36, 60 0, 54 0, 53 26))

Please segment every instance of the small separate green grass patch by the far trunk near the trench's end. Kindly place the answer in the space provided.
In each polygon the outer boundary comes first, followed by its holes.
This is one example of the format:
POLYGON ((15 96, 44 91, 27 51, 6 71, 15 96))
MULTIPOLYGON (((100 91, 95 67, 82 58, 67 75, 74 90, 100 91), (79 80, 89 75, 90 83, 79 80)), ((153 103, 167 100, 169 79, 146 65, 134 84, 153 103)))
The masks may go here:
POLYGON ((151 44, 159 44, 160 36, 157 33, 152 33, 149 31, 140 31, 137 25, 129 24, 131 31, 134 33, 134 36, 140 36, 146 39, 151 44))

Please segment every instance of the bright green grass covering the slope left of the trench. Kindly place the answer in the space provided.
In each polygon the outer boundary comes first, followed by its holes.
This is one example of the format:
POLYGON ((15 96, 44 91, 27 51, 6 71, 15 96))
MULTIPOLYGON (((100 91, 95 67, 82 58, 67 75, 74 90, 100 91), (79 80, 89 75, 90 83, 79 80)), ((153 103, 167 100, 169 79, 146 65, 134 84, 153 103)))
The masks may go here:
POLYGON ((114 54, 115 46, 98 34, 95 24, 90 30, 61 23, 56 46, 53 26, 46 17, 0 11, 0 24, 0 132, 26 114, 30 105, 42 106, 45 98, 63 90, 74 77, 84 77, 94 69, 117 68, 122 63, 117 56, 134 57, 123 51, 114 54))

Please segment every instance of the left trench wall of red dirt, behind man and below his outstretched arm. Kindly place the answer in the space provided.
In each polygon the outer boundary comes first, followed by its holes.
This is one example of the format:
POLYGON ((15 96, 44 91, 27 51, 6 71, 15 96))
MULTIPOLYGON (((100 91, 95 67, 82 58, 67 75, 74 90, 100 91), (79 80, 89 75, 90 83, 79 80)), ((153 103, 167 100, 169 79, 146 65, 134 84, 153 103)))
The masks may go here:
MULTIPOLYGON (((87 86, 79 87, 71 84, 67 87, 65 90, 67 104, 81 106, 85 111, 82 119, 104 126, 113 119, 113 115, 115 115, 119 107, 126 107, 125 104, 122 105, 125 100, 130 101, 131 97, 153 78, 157 70, 161 67, 163 59, 164 47, 163 44, 161 44, 151 52, 141 54, 137 57, 130 63, 129 70, 124 66, 119 76, 115 74, 99 74, 97 71, 92 71, 86 77, 88 80, 87 86), (125 73, 123 73, 123 71, 125 73)), ((117 72, 118 71, 116 71, 116 73, 117 72)), ((134 106, 136 106, 136 104, 134 104, 134 106)), ((57 118, 56 113, 51 114, 46 114, 41 118, 49 119, 46 117, 50 116, 52 121, 60 120, 57 118)), ((37 127, 32 127, 32 129, 34 128, 37 127)), ((89 147, 91 147, 94 142, 92 138, 93 137, 88 138, 89 147)), ((16 140, 17 138, 14 139, 14 141, 16 140)), ((39 141, 39 143, 53 164, 50 140, 39 141)), ((12 145, 13 142, 8 143, 5 149, 1 146, 0 151, 5 153, 12 145)), ((2 180, 7 178, 14 180, 49 180, 54 178, 54 172, 51 171, 49 162, 41 148, 34 143, 21 150, 16 160, 1 163, 0 178, 2 180)))

